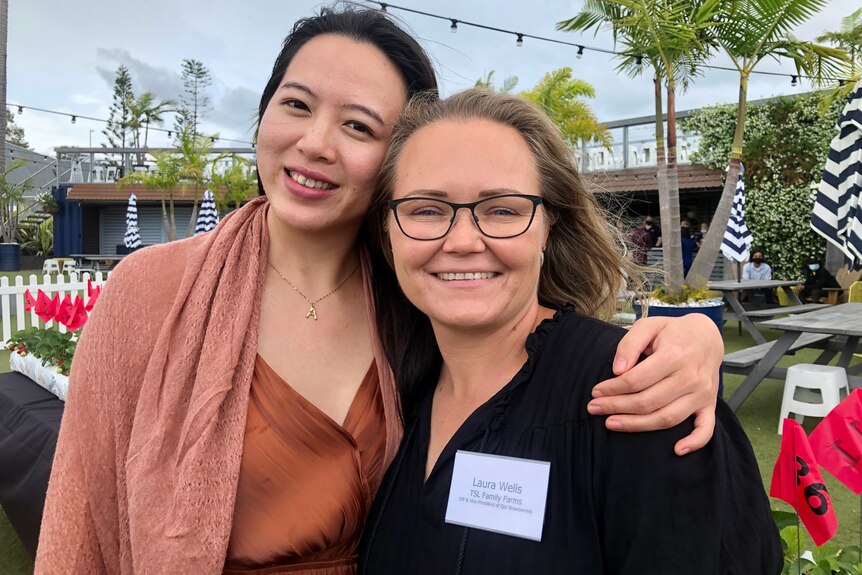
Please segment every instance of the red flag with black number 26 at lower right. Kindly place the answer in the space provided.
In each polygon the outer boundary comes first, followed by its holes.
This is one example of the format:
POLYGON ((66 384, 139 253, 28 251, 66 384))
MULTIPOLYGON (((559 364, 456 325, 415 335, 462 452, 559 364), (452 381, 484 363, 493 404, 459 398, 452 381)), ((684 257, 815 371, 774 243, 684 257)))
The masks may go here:
POLYGON ((819 547, 835 535, 838 520, 832 498, 808 444, 805 430, 790 418, 784 420, 781 451, 772 470, 769 495, 793 506, 819 547))

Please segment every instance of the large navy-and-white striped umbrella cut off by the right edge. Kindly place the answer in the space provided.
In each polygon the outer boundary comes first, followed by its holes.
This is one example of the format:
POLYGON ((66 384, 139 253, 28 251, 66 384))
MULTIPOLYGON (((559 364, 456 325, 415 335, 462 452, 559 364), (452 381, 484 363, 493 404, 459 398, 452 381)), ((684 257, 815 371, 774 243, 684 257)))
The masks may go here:
POLYGON ((846 256, 851 269, 862 268, 862 80, 838 119, 838 135, 817 188, 811 227, 846 256))

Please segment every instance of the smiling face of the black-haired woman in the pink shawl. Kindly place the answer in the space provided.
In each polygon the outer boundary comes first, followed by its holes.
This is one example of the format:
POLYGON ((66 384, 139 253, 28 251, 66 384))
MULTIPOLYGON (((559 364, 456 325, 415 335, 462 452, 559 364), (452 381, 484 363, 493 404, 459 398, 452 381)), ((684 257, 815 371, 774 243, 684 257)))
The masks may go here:
POLYGON ((258 131, 258 174, 279 226, 355 234, 406 89, 371 44, 325 34, 285 71, 258 131))

